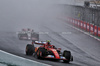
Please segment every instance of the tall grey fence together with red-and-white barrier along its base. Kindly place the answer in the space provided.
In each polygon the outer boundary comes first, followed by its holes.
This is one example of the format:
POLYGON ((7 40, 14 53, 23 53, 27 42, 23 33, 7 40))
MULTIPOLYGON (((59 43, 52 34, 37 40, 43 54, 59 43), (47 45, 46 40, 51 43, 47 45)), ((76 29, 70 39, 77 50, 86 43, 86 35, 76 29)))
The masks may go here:
POLYGON ((67 20, 73 26, 100 37, 100 8, 66 6, 67 20))

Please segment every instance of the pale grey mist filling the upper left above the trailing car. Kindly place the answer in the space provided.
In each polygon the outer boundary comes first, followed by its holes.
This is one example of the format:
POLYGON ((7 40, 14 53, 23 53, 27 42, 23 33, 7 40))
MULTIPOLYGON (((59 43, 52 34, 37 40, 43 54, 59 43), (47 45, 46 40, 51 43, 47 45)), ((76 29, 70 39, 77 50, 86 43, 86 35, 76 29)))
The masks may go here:
MULTIPOLYGON (((64 1, 62 1, 64 2, 64 1)), ((0 31, 40 29, 49 18, 60 16, 61 0, 0 0, 0 31)))

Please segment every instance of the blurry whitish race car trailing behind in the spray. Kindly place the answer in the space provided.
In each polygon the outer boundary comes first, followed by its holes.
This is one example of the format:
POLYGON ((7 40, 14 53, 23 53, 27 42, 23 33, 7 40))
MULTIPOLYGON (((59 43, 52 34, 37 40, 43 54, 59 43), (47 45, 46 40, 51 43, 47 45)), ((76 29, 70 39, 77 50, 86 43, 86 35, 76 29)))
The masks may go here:
POLYGON ((39 34, 30 29, 22 29, 18 32, 18 38, 20 40, 39 40, 39 34))

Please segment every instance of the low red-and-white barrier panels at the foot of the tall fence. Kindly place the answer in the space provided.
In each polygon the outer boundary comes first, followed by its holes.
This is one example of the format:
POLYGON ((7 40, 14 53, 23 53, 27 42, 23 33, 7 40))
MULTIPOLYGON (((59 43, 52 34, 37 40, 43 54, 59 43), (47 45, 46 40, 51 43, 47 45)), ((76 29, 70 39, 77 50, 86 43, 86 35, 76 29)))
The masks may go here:
POLYGON ((78 27, 84 31, 89 32, 92 35, 100 37, 100 27, 94 24, 70 17, 67 17, 67 22, 75 27, 78 27))

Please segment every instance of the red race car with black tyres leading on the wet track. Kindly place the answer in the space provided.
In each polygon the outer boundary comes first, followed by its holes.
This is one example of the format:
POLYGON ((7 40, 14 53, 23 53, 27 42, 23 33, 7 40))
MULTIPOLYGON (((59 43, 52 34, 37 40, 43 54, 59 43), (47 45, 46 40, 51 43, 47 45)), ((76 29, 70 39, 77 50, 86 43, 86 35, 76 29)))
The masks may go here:
POLYGON ((34 55, 38 59, 48 58, 63 60, 66 63, 73 61, 73 56, 70 51, 61 52, 61 48, 56 48, 51 45, 50 41, 32 41, 32 44, 27 44, 26 55, 34 55), (35 47, 34 44, 41 45, 40 47, 35 47))

